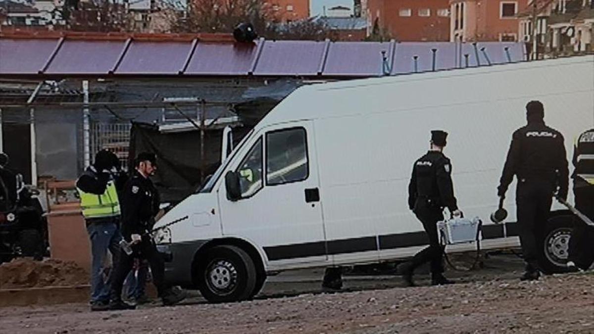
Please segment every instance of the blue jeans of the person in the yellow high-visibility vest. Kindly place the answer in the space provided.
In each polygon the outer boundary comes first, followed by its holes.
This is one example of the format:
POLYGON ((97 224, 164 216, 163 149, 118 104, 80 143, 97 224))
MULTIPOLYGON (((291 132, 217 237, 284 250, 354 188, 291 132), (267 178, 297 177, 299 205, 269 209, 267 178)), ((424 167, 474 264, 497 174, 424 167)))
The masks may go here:
POLYGON ((109 250, 112 254, 113 263, 117 263, 122 234, 115 222, 97 222, 87 225, 87 232, 91 240, 91 254, 93 263, 91 268, 91 303, 97 301, 109 302, 109 291, 111 288, 113 269, 110 270, 108 278, 103 281, 103 260, 109 250))

